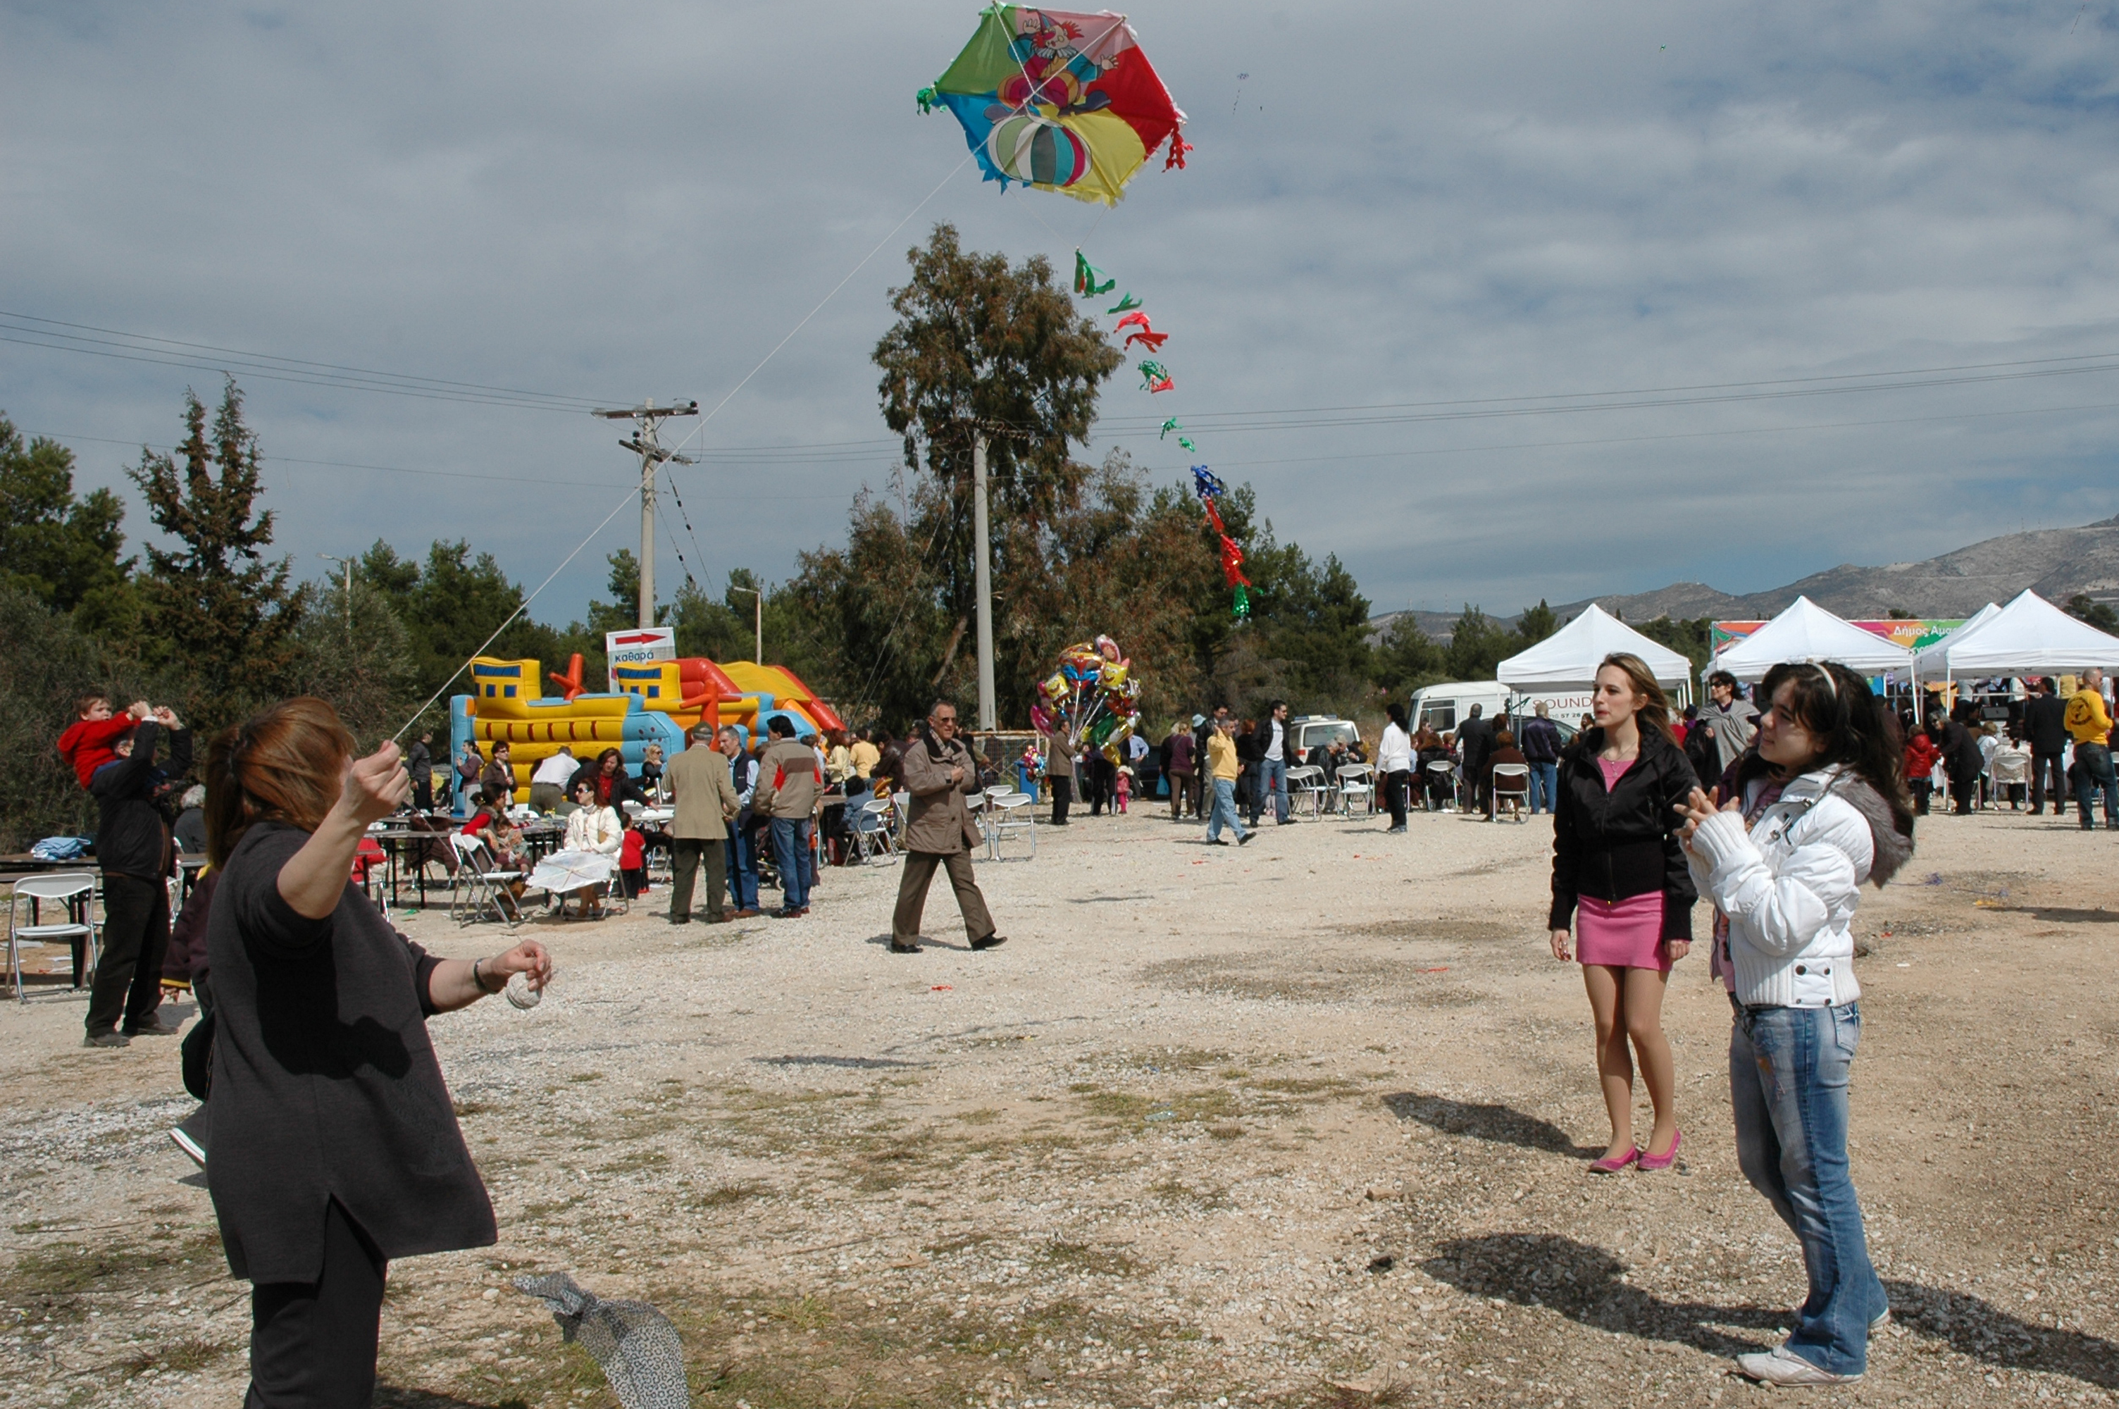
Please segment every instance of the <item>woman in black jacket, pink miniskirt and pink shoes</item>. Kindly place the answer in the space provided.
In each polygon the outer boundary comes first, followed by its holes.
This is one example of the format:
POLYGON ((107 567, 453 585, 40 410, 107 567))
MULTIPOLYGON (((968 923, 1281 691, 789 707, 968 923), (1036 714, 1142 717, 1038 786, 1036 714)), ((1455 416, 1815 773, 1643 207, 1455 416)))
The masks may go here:
POLYGON ((1676 828, 1697 786, 1670 729, 1670 703, 1636 655, 1596 672, 1596 727, 1560 759, 1553 809, 1553 958, 1579 960, 1596 1017, 1596 1068, 1610 1146, 1589 1165, 1668 1170, 1678 1157, 1676 1076, 1663 1036, 1663 985, 1693 941, 1693 888, 1676 828), (1572 939, 1570 945, 1570 926, 1572 939), (1634 1140, 1634 1059, 1655 1106, 1634 1140))

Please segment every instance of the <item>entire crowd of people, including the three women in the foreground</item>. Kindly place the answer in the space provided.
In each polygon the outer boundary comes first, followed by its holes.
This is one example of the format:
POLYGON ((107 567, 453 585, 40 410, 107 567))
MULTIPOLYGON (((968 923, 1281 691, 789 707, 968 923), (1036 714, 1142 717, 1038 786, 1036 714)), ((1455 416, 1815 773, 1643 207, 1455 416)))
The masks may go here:
MULTIPOLYGON (((1405 710, 1390 708, 1375 767, 1392 831, 1405 828, 1415 797, 1432 797, 1428 775, 1447 780, 1445 805, 1553 818, 1549 943, 1555 960, 1583 970, 1610 1123, 1591 1174, 1676 1163, 1682 1129, 1661 1006, 1695 941, 1695 903, 1710 900, 1708 964, 1731 1004, 1735 1159, 1795 1233, 1810 1278, 1786 1343, 1740 1356, 1746 1375, 1784 1386, 1858 1379, 1869 1335, 1890 1316, 1848 1165, 1860 886, 1886 884, 1909 860, 1916 818, 1937 786, 1956 811, 1979 805, 1981 790, 2022 805, 2015 788, 2028 790, 2032 811, 2047 792, 2060 811, 2066 786, 2083 828, 2098 797, 2106 826, 2119 822, 2102 689, 2089 670, 2064 701, 2053 680, 2032 682, 1996 720, 1979 701, 1913 718, 1841 665, 1786 663, 1767 672, 1757 699, 1714 676, 1710 699, 1676 716, 1640 659, 1613 655, 1572 739, 1545 708, 1521 720, 1521 739, 1511 720, 1483 720, 1477 708, 1443 735, 1409 729, 1405 710), (1439 761, 1445 767, 1432 767, 1439 761), (1644 1140, 1634 1129, 1636 1074, 1653 1108, 1644 1140)), ((432 759, 430 737, 417 752, 386 744, 356 756, 328 703, 295 699, 216 737, 203 784, 186 788, 193 742, 174 710, 138 701, 119 714, 89 695, 59 750, 100 807, 106 920, 87 1047, 178 1032, 157 1011, 178 837, 201 841, 210 862, 176 920, 199 943, 191 985, 201 1021, 186 1034, 182 1070, 206 1104, 186 1138, 208 1170, 229 1267, 252 1282, 252 1401, 367 1403, 388 1261, 496 1239, 426 1023, 502 989, 513 998, 515 979, 521 1002, 534 1002, 553 977, 551 956, 523 941, 492 958, 439 960, 352 884, 369 826, 415 807, 424 780, 407 765, 432 759), (386 1051, 394 1057, 377 1059, 386 1051), (396 1151, 417 1151, 417 1161, 396 1151)), ((1072 801, 1062 784, 1104 767, 1110 786, 1093 784, 1091 807, 1123 803, 1129 784, 1153 773, 1168 780, 1172 818, 1206 809, 1210 843, 1229 835, 1244 845, 1265 811, 1288 820, 1295 746, 1280 703, 1257 720, 1218 708, 1178 720, 1159 746, 1127 739, 1112 752, 1076 756, 1064 737, 1047 737, 1017 761, 1017 778, 1030 782, 1034 765, 1051 780, 1060 824, 1072 801)), ((1365 754, 1358 739, 1335 739, 1303 763, 1333 769, 1365 754)), ((509 746, 492 756, 466 748, 456 771, 473 795, 464 833, 521 869, 509 746)), ((905 739, 799 737, 795 720, 776 714, 756 742, 699 725, 676 756, 644 752, 638 771, 617 748, 587 761, 562 750, 532 769, 530 811, 549 814, 568 850, 617 856, 623 873, 638 835, 627 805, 674 803, 670 920, 687 924, 701 871, 708 922, 761 913, 765 848, 782 888, 776 913, 805 915, 820 803, 903 797, 890 949, 920 951, 926 892, 943 871, 971 949, 990 951, 1004 939, 971 867, 971 799, 998 771, 998 759, 979 759, 958 737, 949 701, 934 701, 905 739)), ((593 888, 566 898, 587 913, 602 905, 593 888)))

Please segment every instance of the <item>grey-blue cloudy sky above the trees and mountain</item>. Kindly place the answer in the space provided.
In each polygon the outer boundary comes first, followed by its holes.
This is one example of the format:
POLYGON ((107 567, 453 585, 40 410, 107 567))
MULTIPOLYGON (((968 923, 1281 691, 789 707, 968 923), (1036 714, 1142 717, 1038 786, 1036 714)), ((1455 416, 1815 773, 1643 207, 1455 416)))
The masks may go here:
MULTIPOLYGON (((634 477, 583 407, 727 398, 659 581, 780 578, 892 492, 867 358, 951 220, 1083 244, 1174 333, 1176 390, 1117 379, 1091 453, 1174 479, 1153 426, 1185 417, 1377 610, 1752 591, 2119 513, 2111 0, 1132 19, 1197 150, 1104 214, 981 184, 918 114, 962 2, 0 0, 0 411, 125 485, 237 367, 305 574, 468 538, 534 585, 634 477)), ((636 540, 621 509, 534 612, 636 540)))

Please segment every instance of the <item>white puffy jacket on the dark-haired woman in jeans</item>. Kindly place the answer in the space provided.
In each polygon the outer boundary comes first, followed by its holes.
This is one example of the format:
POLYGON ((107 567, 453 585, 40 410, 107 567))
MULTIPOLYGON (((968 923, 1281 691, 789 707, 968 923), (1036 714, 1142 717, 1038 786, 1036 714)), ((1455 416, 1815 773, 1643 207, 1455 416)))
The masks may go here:
POLYGON ((1699 824, 1687 862, 1699 894, 1729 917, 1735 998, 1748 1006, 1824 1006, 1860 998, 1848 924, 1875 858, 1871 822, 1833 792, 1839 769, 1793 780, 1750 831, 1735 811, 1699 824))

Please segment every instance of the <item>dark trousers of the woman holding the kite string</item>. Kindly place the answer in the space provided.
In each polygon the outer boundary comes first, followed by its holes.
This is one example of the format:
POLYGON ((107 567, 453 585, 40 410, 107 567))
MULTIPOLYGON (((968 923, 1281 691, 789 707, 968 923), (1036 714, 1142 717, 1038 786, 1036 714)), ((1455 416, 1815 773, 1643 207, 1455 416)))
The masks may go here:
POLYGON ((333 1199, 324 1276, 250 1288, 250 1392, 244 1409, 369 1409, 390 1263, 333 1199))

